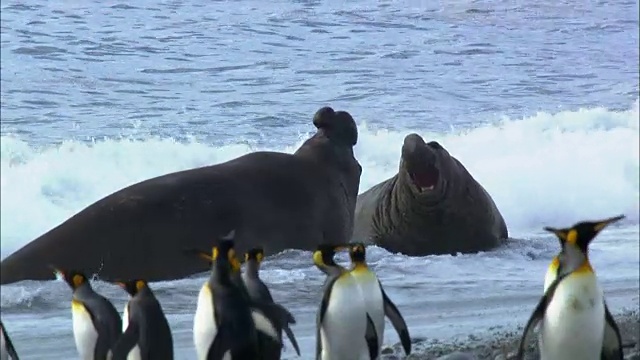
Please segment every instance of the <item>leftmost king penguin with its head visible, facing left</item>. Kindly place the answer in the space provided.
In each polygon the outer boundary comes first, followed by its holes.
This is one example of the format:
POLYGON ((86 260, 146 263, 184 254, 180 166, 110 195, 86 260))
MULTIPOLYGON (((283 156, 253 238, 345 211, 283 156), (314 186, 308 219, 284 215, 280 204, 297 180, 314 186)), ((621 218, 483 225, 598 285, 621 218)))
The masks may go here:
POLYGON ((55 269, 55 272, 73 290, 73 335, 80 359, 111 358, 111 348, 122 334, 120 314, 109 300, 93 290, 83 273, 60 269, 55 269))

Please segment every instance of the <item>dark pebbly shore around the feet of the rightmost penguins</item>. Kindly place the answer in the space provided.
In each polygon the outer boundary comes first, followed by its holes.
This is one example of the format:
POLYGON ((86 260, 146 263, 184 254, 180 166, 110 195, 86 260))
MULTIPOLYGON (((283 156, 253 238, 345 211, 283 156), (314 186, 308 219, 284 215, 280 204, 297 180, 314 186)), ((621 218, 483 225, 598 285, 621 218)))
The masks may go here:
MULTIPOLYGON (((625 360, 640 360, 640 313, 626 311, 614 315, 620 328, 625 360)), ((413 339, 412 353, 405 357, 400 344, 383 349, 382 360, 507 360, 516 352, 524 325, 512 331, 493 332, 485 338, 442 343, 436 340, 413 339)), ((525 360, 539 358, 537 341, 532 341, 525 360)))

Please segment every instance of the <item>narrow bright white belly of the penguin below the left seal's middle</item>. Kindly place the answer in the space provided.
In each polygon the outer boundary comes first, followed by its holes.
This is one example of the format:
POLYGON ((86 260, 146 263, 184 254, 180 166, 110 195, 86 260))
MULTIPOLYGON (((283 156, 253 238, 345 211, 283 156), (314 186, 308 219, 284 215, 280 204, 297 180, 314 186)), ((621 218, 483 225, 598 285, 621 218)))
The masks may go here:
MULTIPOLYGON (((199 360, 206 360, 209 348, 218 332, 215 312, 213 311, 213 294, 209 285, 205 284, 198 295, 198 305, 193 318, 193 342, 199 360)), ((231 360, 229 353, 224 360, 231 360)))

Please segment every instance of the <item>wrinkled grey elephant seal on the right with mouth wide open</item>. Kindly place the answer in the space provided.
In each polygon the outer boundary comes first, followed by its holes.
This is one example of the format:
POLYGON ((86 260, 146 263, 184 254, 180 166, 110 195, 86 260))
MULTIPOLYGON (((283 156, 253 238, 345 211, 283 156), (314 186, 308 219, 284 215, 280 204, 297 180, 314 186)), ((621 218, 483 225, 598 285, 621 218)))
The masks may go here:
POLYGON ((352 241, 410 256, 473 253, 508 237, 491 196, 435 141, 404 139, 398 173, 358 196, 352 241))

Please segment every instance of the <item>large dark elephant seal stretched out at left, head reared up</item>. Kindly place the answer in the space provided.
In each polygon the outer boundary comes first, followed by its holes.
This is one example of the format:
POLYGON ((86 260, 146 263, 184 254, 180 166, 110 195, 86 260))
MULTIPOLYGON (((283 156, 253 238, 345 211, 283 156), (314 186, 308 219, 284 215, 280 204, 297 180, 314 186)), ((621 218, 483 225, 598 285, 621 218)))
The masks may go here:
POLYGON ((294 154, 260 151, 131 185, 88 206, 0 264, 0 283, 48 280, 48 267, 106 281, 173 280, 207 270, 183 255, 235 229, 237 251, 313 250, 353 233, 362 168, 356 124, 319 109, 317 132, 294 154), (144 259, 144 261, 140 261, 144 259))

